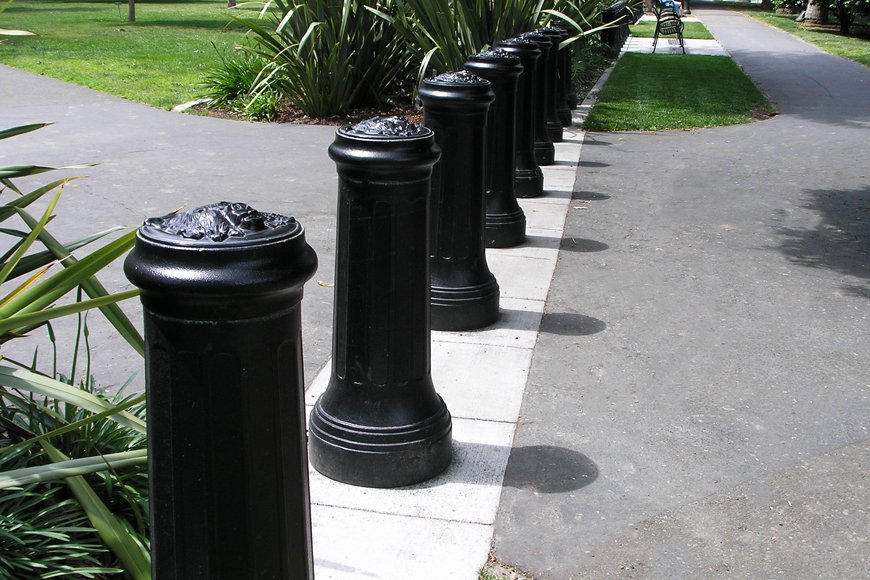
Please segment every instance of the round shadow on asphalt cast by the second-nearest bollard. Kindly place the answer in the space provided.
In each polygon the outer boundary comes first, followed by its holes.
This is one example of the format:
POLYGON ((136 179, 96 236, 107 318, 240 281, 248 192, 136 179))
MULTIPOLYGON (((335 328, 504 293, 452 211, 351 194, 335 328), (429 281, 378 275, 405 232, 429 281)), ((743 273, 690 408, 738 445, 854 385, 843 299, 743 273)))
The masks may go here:
POLYGON ((537 493, 565 493, 598 478, 594 461, 576 451, 551 445, 514 447, 504 485, 537 493))

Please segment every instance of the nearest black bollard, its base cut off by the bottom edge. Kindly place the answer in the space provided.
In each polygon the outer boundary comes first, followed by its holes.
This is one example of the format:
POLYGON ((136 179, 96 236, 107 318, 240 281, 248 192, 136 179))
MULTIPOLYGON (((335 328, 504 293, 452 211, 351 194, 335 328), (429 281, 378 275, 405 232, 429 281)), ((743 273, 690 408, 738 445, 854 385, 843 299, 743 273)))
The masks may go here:
POLYGON ((155 578, 314 577, 293 218, 246 204, 149 219, 124 264, 145 318, 155 578))

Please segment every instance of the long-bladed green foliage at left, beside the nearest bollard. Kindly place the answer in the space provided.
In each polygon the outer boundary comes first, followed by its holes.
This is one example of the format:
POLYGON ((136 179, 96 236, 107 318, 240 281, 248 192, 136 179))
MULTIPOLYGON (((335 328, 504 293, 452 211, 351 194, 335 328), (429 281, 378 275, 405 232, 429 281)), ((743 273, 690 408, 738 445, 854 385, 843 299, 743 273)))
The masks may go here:
MULTIPOLYGON (((6 129, 0 139, 43 126, 6 129)), ((0 342, 26 339, 43 326, 54 340, 50 321, 77 316, 87 351, 82 313, 99 308, 141 354, 142 337, 117 306, 138 291, 110 294, 95 277, 132 246, 134 232, 74 257, 118 228, 58 242, 46 226, 69 179, 29 193, 12 181, 53 169, 0 167, 0 194, 12 197, 0 205, 0 222, 18 218, 23 224, 0 229, 11 245, 0 257, 0 342), (41 216, 30 215, 27 208, 43 198, 48 204, 41 216), (34 251, 37 243, 44 249, 34 251)), ((0 489, 10 490, 2 495, 0 563, 21 570, 18 577, 93 577, 112 573, 118 562, 129 576, 148 578, 144 397, 109 400, 90 380, 73 386, 78 352, 77 341, 66 378, 55 378, 56 369, 49 376, 12 361, 0 364, 0 489)), ((89 365, 84 375, 90 376, 89 365)))

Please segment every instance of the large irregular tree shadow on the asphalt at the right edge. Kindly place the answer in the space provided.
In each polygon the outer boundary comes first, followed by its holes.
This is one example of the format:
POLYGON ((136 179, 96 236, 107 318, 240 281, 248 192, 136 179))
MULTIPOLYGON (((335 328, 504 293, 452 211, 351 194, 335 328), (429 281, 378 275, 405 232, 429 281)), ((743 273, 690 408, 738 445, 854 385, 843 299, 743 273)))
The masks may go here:
MULTIPOLYGON (((803 207, 816 212, 820 223, 814 229, 778 230, 786 238, 780 251, 800 266, 870 279, 870 186, 805 193, 810 199, 803 207)), ((856 292, 867 295, 860 287, 856 292)))

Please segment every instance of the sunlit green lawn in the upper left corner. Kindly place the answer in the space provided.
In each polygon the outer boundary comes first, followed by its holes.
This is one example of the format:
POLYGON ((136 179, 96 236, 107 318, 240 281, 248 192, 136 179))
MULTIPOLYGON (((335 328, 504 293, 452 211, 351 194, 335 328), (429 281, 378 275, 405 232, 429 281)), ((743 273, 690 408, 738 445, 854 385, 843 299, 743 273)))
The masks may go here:
POLYGON ((226 0, 141 2, 136 22, 127 3, 15 0, 0 28, 36 36, 0 43, 0 62, 35 73, 171 108, 200 96, 206 71, 242 39, 228 25, 226 0))

